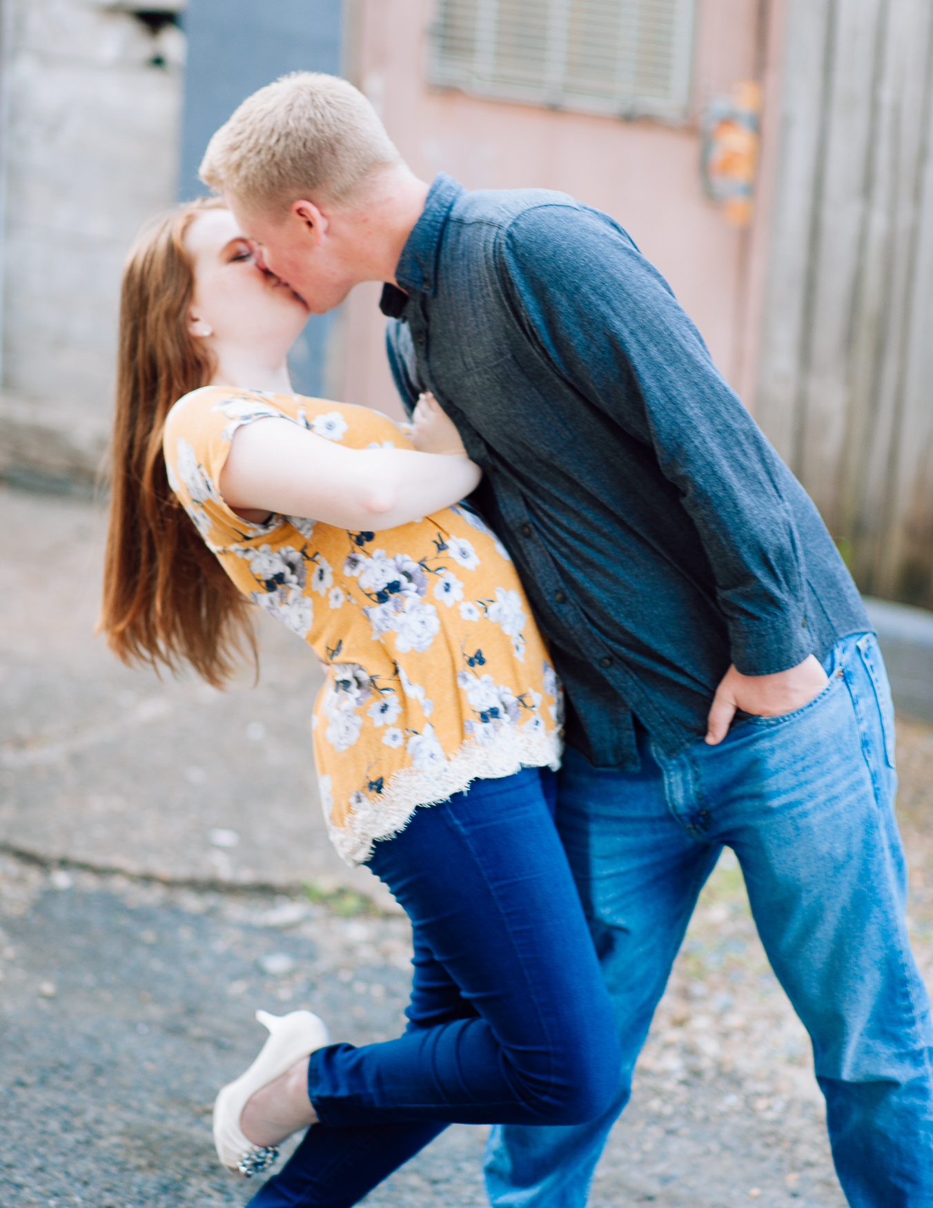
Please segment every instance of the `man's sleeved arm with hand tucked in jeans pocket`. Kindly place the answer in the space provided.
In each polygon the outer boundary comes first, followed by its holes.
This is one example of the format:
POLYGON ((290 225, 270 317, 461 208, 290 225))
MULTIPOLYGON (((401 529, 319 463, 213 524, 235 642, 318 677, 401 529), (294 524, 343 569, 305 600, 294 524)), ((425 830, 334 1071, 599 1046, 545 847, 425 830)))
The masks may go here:
POLYGON ((566 207, 521 215, 501 271, 540 350, 651 446, 696 527, 734 662, 707 741, 724 734, 736 705, 775 715, 806 703, 812 664, 824 673, 811 660, 792 481, 666 283, 610 220, 566 207))

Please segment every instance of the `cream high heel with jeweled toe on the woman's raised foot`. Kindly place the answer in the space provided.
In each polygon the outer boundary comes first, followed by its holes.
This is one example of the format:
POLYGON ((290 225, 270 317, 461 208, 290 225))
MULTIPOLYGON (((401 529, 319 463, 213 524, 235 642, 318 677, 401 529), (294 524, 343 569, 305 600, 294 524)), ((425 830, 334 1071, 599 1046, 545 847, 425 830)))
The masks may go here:
POLYGON ((251 1178, 279 1156, 278 1145, 253 1145, 240 1128, 240 1116, 252 1096, 274 1082, 286 1070, 331 1043, 327 1027, 310 1011, 269 1015, 257 1011, 256 1018, 269 1029, 269 1038, 245 1074, 217 1096, 214 1104, 214 1144, 217 1157, 228 1171, 251 1178))

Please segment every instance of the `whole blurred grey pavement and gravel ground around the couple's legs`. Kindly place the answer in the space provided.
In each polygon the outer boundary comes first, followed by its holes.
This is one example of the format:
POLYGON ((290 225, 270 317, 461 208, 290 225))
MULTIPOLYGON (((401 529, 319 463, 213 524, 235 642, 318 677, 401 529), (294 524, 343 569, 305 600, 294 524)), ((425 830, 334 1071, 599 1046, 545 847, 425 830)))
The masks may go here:
MULTIPOLYGON (((257 1007, 396 1035, 408 924, 326 841, 310 652, 261 617, 229 692, 119 666, 93 637, 104 517, 0 488, 0 1206, 245 1204, 217 1088, 257 1007)), ((933 971, 933 728, 902 727, 914 942, 933 971)), ((366 1201, 486 1203, 485 1129, 454 1126, 366 1201)), ((734 859, 704 893, 590 1203, 844 1204, 806 1035, 734 859)))

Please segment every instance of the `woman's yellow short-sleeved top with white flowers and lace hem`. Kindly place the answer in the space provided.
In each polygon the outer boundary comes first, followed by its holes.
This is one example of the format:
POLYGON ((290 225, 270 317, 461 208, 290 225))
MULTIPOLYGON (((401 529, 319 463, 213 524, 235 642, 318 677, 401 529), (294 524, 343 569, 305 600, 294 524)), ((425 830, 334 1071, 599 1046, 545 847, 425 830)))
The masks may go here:
POLYGON ((419 806, 556 767, 560 687, 506 550, 467 505, 381 533, 232 512, 216 486, 231 439, 269 416, 351 448, 413 446, 367 407, 227 387, 185 395, 165 424, 169 483, 208 546, 330 664, 311 722, 321 800, 360 864, 419 806))

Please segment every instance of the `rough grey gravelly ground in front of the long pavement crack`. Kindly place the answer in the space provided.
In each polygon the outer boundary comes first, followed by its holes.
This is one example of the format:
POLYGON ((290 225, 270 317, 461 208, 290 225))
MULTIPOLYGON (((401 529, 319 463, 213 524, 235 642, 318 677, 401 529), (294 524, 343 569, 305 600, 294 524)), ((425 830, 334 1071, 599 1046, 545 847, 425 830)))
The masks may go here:
MULTIPOLYGON (((933 728, 903 721, 911 930, 933 975, 933 728)), ((210 1144, 218 1085, 251 1059, 252 1011, 309 1006, 338 1039, 393 1035, 403 918, 327 901, 197 893, 0 858, 4 1208, 245 1204, 210 1144)), ((369 1208, 484 1204, 485 1129, 449 1129, 369 1208)), ((725 854, 711 878, 599 1167, 594 1208, 835 1208, 806 1034, 725 854)))

